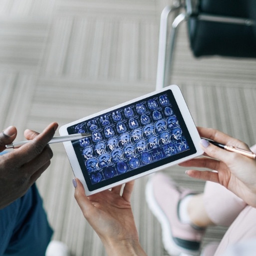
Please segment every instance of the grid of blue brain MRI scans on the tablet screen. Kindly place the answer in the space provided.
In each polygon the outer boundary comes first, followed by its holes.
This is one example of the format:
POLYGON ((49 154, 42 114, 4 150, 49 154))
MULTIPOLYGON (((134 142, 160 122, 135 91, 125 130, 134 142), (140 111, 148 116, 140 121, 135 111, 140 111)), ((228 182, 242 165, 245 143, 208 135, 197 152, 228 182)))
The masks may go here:
POLYGON ((72 144, 92 185, 189 149, 166 92, 71 126, 68 133, 92 135, 72 144))

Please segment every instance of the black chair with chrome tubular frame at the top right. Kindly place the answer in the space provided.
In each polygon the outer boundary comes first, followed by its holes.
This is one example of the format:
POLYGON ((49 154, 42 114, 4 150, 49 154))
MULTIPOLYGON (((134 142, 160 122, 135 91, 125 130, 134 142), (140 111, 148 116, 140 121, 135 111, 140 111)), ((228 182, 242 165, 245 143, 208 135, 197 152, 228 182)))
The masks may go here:
POLYGON ((256 58, 255 20, 256 0, 174 0, 161 14, 156 89, 168 85, 177 28, 183 21, 188 21, 195 57, 256 58), (173 12, 178 14, 168 38, 168 21, 173 12))

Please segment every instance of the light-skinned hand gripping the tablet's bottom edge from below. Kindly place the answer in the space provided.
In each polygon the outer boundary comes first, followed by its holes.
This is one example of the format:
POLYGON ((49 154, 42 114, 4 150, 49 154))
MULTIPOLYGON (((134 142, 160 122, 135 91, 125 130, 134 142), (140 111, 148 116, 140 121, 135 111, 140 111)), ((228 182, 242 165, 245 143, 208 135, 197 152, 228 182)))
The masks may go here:
POLYGON ((87 197, 83 185, 73 180, 75 199, 82 213, 100 237, 109 256, 146 256, 139 244, 131 208, 134 181, 87 197))

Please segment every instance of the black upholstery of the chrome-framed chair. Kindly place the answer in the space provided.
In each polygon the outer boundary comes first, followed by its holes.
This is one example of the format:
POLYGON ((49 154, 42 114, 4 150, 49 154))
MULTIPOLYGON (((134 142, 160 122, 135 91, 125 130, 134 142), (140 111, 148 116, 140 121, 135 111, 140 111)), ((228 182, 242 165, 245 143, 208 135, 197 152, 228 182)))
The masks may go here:
POLYGON ((192 51, 196 57, 221 55, 256 58, 256 26, 202 20, 200 16, 255 18, 256 0, 201 0, 197 15, 188 20, 192 51))

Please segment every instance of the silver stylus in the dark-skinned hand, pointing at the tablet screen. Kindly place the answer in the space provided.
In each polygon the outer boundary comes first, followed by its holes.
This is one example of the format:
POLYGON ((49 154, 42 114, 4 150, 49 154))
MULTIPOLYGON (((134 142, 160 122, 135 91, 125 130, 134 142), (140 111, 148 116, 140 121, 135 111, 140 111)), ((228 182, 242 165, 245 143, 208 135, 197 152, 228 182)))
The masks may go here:
MULTIPOLYGON (((71 135, 66 135, 66 136, 58 136, 58 137, 53 137, 48 144, 52 143, 58 143, 58 142, 65 142, 65 141, 72 141, 72 140, 80 140, 85 137, 90 137, 90 133, 77 133, 77 134, 71 134, 71 135)), ((19 141, 19 142, 12 142, 10 145, 5 145, 6 149, 10 148, 19 148, 22 145, 31 142, 31 140, 25 140, 25 141, 19 141)))

